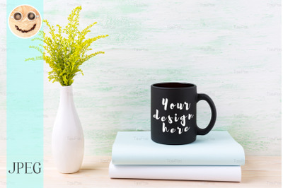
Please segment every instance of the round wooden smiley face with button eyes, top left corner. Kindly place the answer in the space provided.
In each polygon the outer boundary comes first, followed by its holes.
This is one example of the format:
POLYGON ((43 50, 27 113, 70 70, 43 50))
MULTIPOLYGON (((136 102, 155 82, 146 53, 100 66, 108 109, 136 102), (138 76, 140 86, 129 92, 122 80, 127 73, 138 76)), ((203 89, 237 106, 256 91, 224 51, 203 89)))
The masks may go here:
POLYGON ((8 25, 11 32, 18 37, 33 37, 41 27, 40 13, 33 6, 17 6, 10 13, 8 25))

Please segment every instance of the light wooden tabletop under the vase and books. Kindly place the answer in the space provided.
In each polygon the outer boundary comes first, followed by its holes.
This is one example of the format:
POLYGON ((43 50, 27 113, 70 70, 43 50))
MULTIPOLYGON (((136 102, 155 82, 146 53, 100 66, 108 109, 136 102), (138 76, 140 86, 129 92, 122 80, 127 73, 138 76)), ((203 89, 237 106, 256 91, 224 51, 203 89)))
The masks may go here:
POLYGON ((247 156, 241 182, 110 179, 110 156, 86 155, 79 172, 61 174, 51 156, 44 159, 45 187, 281 187, 281 157, 247 156))

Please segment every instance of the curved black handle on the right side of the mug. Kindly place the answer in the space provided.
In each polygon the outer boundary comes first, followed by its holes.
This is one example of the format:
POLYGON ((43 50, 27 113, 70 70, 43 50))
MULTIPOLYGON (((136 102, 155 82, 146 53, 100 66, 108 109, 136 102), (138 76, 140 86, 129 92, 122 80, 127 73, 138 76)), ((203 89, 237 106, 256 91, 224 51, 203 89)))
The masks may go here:
POLYGON ((211 98, 209 98, 209 95, 206 94, 197 94, 197 102, 200 100, 205 100, 209 104, 210 109, 212 110, 212 118, 210 119, 210 122, 208 126, 204 129, 201 129, 200 127, 197 127, 197 135, 204 135, 208 134, 209 131, 212 130, 214 127, 214 124, 216 122, 216 107, 214 105, 214 102, 212 101, 211 98))

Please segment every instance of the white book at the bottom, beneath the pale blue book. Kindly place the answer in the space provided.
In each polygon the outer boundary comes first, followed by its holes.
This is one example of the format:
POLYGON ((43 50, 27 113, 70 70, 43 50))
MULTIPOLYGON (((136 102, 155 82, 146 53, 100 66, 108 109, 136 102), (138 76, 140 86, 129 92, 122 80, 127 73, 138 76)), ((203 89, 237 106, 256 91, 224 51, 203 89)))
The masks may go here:
POLYGON ((111 178, 241 182, 241 166, 109 165, 111 178))

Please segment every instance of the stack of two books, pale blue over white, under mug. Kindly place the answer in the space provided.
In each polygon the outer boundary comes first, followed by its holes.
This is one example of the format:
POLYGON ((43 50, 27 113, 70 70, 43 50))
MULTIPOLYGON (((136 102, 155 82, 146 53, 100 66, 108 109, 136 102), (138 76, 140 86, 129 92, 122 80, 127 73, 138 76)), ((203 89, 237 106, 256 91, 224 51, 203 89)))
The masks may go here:
POLYGON ((241 182, 243 147, 227 131, 193 143, 164 145, 150 131, 120 131, 112 147, 111 178, 241 182))

